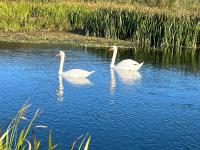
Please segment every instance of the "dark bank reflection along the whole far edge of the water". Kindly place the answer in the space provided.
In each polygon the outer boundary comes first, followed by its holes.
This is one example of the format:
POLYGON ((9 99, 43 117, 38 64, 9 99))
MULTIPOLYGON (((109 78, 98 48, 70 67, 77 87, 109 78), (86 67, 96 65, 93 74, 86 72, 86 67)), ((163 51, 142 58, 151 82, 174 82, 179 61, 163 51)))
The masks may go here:
MULTIPOLYGON (((0 42, 0 49, 9 49, 15 55, 24 54, 31 50, 31 54, 41 54, 44 50, 63 50, 72 49, 71 46, 65 44, 29 44, 29 43, 8 43, 0 42)), ((108 48, 80 48, 73 47, 74 50, 87 50, 89 53, 94 54, 104 60, 110 61, 112 53, 108 52, 108 48)), ((56 52, 54 52, 56 54, 56 52)), ((53 53, 53 55, 54 55, 53 53)), ((175 68, 184 72, 199 73, 200 71, 200 49, 173 49, 173 48, 159 48, 150 49, 144 47, 135 48, 119 48, 117 54, 117 62, 123 59, 134 59, 138 62, 144 61, 144 64, 153 64, 157 67, 164 67, 166 69, 175 68)))

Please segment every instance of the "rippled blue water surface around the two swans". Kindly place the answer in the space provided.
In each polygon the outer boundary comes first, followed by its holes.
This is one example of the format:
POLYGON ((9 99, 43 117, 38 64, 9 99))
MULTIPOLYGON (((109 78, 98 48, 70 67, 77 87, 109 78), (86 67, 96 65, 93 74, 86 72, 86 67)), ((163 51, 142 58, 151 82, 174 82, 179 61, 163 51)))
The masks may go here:
POLYGON ((105 48, 1 43, 0 126, 28 101, 27 118, 40 108, 34 125, 48 126, 34 128, 42 149, 49 129, 57 149, 69 149, 87 132, 90 149, 200 149, 200 55, 171 52, 121 50, 117 62, 145 62, 139 72, 127 74, 110 71, 112 53, 105 48), (60 48, 66 53, 64 70, 96 73, 88 80, 59 79, 60 48))

